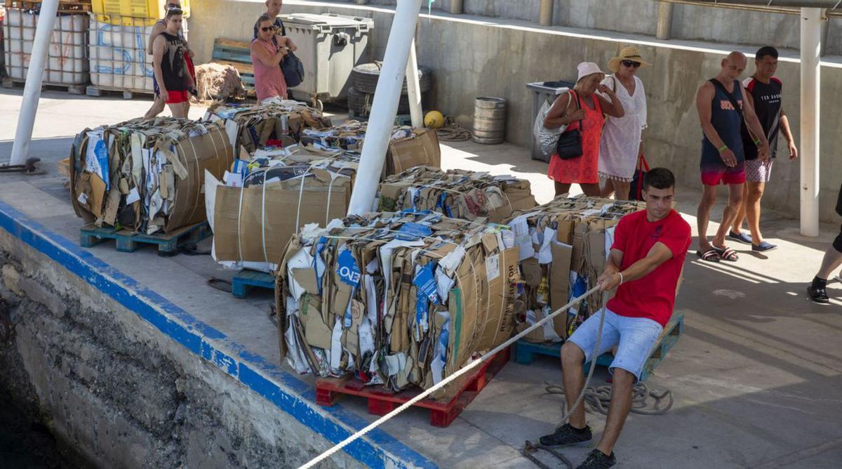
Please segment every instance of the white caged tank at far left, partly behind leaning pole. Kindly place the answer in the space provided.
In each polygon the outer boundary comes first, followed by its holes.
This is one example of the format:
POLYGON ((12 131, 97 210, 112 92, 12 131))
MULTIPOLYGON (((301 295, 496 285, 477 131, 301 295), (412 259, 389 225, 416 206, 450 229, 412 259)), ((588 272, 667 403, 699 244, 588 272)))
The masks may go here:
MULTIPOLYGON (((9 8, 4 23, 4 46, 8 76, 24 80, 35 40, 38 15, 9 8)), ((50 40, 44 83, 79 85, 88 83, 88 16, 59 14, 50 40)))

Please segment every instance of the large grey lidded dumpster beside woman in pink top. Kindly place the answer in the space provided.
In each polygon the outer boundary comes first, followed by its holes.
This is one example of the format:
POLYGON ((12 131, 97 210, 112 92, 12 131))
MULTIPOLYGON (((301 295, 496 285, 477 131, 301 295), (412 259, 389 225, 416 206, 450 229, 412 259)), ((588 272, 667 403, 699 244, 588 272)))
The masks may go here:
POLYGON ((368 42, 374 20, 333 13, 282 14, 286 35, 298 46, 304 81, 290 88, 295 99, 311 102, 344 99, 351 69, 369 61, 368 42))

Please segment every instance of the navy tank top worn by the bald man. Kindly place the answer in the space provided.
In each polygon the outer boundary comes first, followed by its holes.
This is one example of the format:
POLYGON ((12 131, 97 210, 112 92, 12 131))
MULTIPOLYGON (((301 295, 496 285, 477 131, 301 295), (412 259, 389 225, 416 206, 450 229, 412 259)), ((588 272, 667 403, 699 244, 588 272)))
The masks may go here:
MULTIPOLYGON (((733 96, 740 106, 740 111, 742 111, 743 86, 737 80, 734 80, 733 83, 733 96)), ((734 109, 727 94, 719 87, 714 86, 713 100, 711 100, 711 125, 717 131, 719 138, 734 152, 734 156, 737 157, 738 162, 745 161, 743 138, 740 135, 742 121, 742 115, 737 109, 734 109)), ((713 146, 711 141, 707 140, 707 136, 704 133, 702 133, 701 137, 701 160, 702 162, 722 163, 719 150, 713 146)))

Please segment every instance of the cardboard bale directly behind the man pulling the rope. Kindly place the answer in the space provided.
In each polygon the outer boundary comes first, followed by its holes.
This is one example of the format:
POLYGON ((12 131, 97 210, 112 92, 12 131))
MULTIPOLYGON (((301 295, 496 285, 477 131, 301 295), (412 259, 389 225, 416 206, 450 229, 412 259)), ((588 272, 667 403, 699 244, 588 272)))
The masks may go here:
MULTIPOLYGON (((605 269, 605 259, 614 240, 614 227, 622 216, 645 209, 642 202, 594 197, 557 198, 530 211, 515 212, 509 218, 519 248, 524 278, 522 310, 517 315, 523 330, 584 294, 605 269)), ((567 315, 526 336, 533 342, 568 338, 570 333, 597 312, 603 300, 592 295, 567 315)), ((520 303, 519 303, 520 305, 520 303)))

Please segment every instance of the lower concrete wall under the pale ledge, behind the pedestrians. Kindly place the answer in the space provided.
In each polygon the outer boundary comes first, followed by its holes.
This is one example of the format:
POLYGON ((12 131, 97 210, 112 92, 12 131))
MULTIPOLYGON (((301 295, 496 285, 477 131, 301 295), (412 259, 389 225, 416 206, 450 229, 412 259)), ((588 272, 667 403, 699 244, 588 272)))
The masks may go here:
MULTIPOLYGON (((649 2, 652 3, 652 2, 649 2)), ((210 57, 215 37, 246 39, 252 18, 257 18, 262 3, 226 2, 210 4, 194 13, 191 43, 200 61, 210 57), (195 25, 195 26, 193 26, 195 25)), ((340 13, 366 16, 375 20, 370 44, 374 56, 381 57, 392 23, 386 8, 338 6, 336 3, 287 2, 285 13, 340 13)), ((605 67, 626 40, 582 35, 561 29, 533 29, 463 17, 424 18, 419 22, 418 61, 434 71, 432 102, 436 108, 456 118, 460 125, 472 125, 473 99, 499 96, 508 100, 506 139, 521 146, 531 141, 531 95, 525 83, 556 79, 574 79, 580 61, 595 61, 605 67)), ((654 67, 644 68, 640 77, 646 85, 649 104, 649 129, 645 151, 650 163, 672 168, 679 181, 699 186, 698 163, 701 129, 695 111, 695 90, 717 73, 726 52, 711 48, 653 43, 638 38, 638 47, 654 67)), ((745 47, 750 52, 752 48, 745 47)), ((788 52, 788 56, 795 56, 788 52)), ((750 67, 749 67, 750 68, 750 67)), ((799 135, 798 62, 782 59, 778 69, 784 87, 784 103, 799 135)), ((822 107, 822 179, 821 213, 824 220, 833 217, 839 191, 842 159, 840 120, 835 97, 842 95, 842 68, 822 67, 822 94, 829 105, 822 107)), ((781 150, 786 151, 783 138, 781 150)), ((792 215, 799 211, 798 163, 779 158, 773 181, 766 189, 764 203, 792 215)))

